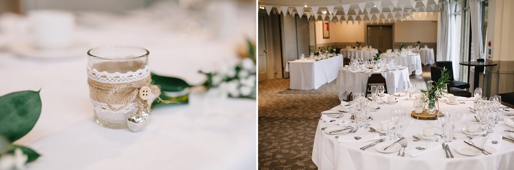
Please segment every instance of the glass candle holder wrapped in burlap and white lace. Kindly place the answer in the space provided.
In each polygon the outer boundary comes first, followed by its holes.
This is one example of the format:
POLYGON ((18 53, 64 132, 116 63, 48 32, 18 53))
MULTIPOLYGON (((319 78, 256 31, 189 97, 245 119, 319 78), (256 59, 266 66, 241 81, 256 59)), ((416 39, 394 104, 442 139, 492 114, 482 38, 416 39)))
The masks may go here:
POLYGON ((113 92, 113 88, 149 78, 149 54, 144 48, 131 46, 97 47, 87 51, 89 93, 99 125, 127 128, 127 117, 136 114, 138 105, 131 97, 126 97, 131 96, 132 91, 113 92))

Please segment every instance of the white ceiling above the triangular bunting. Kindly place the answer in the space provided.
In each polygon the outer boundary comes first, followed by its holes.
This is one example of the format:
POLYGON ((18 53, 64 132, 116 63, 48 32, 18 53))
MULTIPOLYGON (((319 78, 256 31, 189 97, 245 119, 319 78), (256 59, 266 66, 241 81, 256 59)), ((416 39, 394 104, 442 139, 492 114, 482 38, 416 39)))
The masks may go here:
MULTIPOLYGON (((424 7, 422 0, 398 0, 398 4, 396 8, 393 8, 391 11, 389 9, 389 6, 392 6, 393 3, 391 0, 259 0, 259 5, 271 5, 274 8, 279 8, 279 6, 287 6, 287 7, 301 7, 307 5, 307 8, 304 8, 304 12, 310 12, 311 6, 320 6, 318 10, 318 14, 321 14, 321 11, 326 10, 325 6, 332 6, 335 5, 336 7, 334 9, 337 9, 337 15, 344 15, 343 8, 341 5, 350 5, 350 10, 348 10, 348 15, 356 15, 354 12, 354 9, 359 9, 360 3, 366 3, 364 8, 371 8, 371 13, 379 13, 378 9, 375 6, 374 2, 381 1, 382 6, 382 12, 392 12, 392 11, 402 11, 400 8, 400 5, 403 4, 404 9, 403 11, 407 11, 408 9, 412 9, 412 11, 415 11, 415 9, 412 7, 412 2, 416 2, 415 8, 420 9, 421 7, 424 7)), ((438 12, 438 7, 435 6, 435 10, 431 9, 430 6, 432 4, 435 4, 435 1, 440 0, 428 0, 426 11, 424 12, 438 12)), ((442 2, 439 2, 438 5, 441 5, 442 2)), ((296 11, 296 9, 294 10, 296 11)), ((423 10, 420 10, 423 11, 423 10)), ((298 13, 298 12, 297 12, 298 13)), ((363 11, 361 11, 358 14, 364 14, 363 11)), ((367 13, 366 13, 367 14, 367 13)))

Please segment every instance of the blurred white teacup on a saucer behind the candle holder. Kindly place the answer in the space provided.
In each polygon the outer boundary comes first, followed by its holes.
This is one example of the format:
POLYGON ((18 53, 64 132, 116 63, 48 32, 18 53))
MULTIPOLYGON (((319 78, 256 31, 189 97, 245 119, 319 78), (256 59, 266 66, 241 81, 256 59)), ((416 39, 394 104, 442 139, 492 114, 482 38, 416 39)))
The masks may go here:
POLYGON ((62 10, 28 12, 29 38, 39 49, 69 47, 75 30, 75 15, 62 10))

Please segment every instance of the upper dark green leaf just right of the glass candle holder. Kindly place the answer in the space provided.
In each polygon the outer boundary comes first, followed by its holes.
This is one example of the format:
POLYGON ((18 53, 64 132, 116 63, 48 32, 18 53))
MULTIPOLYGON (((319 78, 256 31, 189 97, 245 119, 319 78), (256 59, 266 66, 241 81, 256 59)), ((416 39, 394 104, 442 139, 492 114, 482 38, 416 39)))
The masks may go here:
POLYGON ((186 81, 176 77, 165 77, 152 73, 153 84, 160 87, 161 91, 180 92, 192 87, 186 81))

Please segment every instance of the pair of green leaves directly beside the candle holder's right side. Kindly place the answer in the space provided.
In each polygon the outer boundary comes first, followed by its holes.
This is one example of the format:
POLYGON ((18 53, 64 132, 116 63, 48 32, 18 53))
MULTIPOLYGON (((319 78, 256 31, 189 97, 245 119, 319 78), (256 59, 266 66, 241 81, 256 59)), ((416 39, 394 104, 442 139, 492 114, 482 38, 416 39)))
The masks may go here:
POLYGON ((152 108, 160 108, 166 105, 177 105, 189 103, 189 88, 193 87, 185 80, 176 77, 161 76, 152 73, 153 84, 160 87, 162 100, 170 101, 170 103, 158 102, 154 100, 152 108), (169 95, 173 94, 173 95, 169 95))

